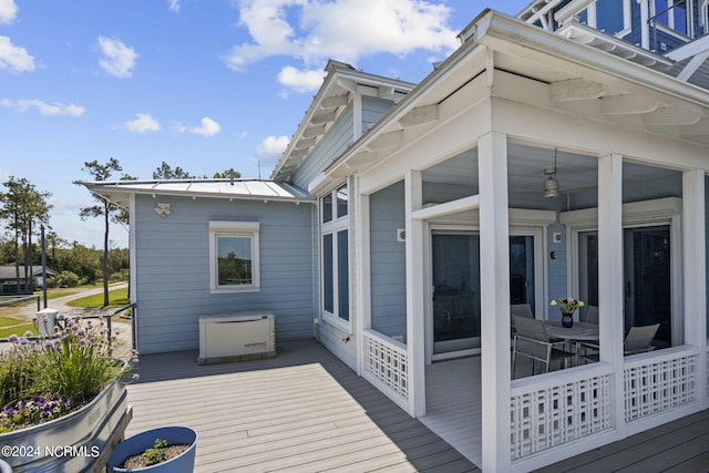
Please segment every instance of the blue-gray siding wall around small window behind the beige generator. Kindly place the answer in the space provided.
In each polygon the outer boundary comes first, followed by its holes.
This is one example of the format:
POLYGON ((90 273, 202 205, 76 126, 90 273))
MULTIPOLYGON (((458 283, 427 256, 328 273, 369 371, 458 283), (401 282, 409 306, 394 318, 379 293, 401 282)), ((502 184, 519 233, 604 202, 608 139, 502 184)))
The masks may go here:
POLYGON ((276 315, 277 342, 312 337, 312 212, 309 204, 136 196, 138 350, 196 349, 199 316, 249 309, 276 315), (167 218, 153 210, 157 202, 171 204, 167 218), (209 220, 260 223, 258 292, 209 292, 209 220))

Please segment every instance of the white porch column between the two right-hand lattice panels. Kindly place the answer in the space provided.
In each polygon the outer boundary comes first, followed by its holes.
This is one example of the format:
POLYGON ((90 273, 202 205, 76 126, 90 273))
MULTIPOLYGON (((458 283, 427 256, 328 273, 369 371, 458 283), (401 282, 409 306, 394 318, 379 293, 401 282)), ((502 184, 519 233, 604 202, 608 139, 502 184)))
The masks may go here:
POLYGON ((625 436, 623 360, 623 156, 598 158, 598 333, 600 361, 615 366, 615 425, 625 436))

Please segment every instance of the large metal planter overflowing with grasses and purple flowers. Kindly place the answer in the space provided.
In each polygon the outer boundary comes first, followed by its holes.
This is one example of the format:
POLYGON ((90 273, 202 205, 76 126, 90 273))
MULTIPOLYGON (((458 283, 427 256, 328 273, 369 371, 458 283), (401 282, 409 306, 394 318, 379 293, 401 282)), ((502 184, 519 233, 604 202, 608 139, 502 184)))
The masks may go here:
POLYGON ((131 419, 123 380, 137 353, 116 359, 102 320, 60 315, 52 333, 10 336, 0 353, 0 445, 14 471, 96 466, 131 419))

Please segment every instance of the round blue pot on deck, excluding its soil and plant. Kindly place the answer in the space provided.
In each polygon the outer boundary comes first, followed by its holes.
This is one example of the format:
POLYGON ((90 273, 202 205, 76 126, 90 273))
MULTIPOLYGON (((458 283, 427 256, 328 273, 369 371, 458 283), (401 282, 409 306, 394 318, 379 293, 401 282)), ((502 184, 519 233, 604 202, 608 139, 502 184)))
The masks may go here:
POLYGON ((197 453, 197 432, 186 426, 164 426, 141 432, 115 445, 106 466, 109 472, 192 473, 197 453), (187 444, 189 448, 179 455, 163 463, 142 469, 122 469, 119 465, 133 456, 152 449, 155 439, 165 439, 168 445, 187 444))

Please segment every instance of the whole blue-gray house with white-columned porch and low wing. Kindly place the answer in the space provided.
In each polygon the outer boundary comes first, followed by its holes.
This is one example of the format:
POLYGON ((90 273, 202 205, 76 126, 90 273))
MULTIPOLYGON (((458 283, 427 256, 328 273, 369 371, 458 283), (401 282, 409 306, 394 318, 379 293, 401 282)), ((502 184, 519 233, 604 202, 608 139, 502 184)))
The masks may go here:
POLYGON ((444 438, 480 412, 453 436, 490 472, 707 409, 707 32, 703 0, 485 10, 419 84, 330 61, 271 181, 84 183, 131 210, 137 348, 273 310, 412 417, 458 409, 444 438), (513 379, 511 305, 553 321, 569 295, 599 361, 513 379), (441 398, 432 367, 475 389, 441 398))

